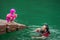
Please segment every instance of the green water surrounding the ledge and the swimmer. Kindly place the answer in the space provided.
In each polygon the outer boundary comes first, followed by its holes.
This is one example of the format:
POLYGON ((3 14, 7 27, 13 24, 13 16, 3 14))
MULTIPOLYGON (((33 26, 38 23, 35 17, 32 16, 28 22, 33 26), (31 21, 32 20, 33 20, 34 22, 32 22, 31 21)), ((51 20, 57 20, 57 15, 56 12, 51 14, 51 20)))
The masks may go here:
POLYGON ((32 31, 49 24, 47 40, 60 40, 60 0, 0 0, 0 19, 5 19, 11 8, 16 9, 16 22, 29 28, 0 35, 0 40, 34 40, 32 31))

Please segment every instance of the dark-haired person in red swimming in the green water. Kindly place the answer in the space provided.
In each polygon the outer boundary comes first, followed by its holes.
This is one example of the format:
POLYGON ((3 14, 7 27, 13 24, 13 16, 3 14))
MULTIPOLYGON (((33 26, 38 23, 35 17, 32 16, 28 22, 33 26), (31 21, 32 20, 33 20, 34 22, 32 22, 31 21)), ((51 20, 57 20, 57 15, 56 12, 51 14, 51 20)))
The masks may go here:
POLYGON ((39 37, 32 37, 32 38, 36 38, 36 39, 46 39, 46 38, 48 38, 49 35, 50 35, 49 27, 48 27, 47 24, 44 24, 44 25, 42 26, 42 28, 37 28, 35 31, 38 32, 38 33, 40 33, 41 36, 39 36, 39 37))

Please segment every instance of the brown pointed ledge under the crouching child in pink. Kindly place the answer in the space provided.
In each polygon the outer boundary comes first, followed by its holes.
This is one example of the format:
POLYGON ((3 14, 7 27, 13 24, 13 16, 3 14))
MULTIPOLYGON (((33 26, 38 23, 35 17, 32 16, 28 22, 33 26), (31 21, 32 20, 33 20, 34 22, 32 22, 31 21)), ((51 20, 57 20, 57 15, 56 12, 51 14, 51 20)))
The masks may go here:
POLYGON ((0 20, 0 34, 4 34, 7 32, 13 32, 16 30, 21 30, 26 28, 26 25, 24 24, 19 24, 16 22, 12 22, 12 23, 7 23, 6 20, 0 20))

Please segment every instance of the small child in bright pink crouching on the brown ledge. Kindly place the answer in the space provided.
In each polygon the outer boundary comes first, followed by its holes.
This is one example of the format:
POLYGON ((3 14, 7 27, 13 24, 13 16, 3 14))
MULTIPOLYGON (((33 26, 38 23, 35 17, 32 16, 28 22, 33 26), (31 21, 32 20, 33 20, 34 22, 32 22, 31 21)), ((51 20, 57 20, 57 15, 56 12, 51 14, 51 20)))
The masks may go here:
POLYGON ((15 12, 16 12, 15 9, 11 9, 11 10, 10 10, 10 13, 7 14, 7 16, 6 16, 6 21, 7 21, 8 23, 11 23, 11 22, 13 22, 13 21, 16 19, 17 14, 15 14, 15 12))

